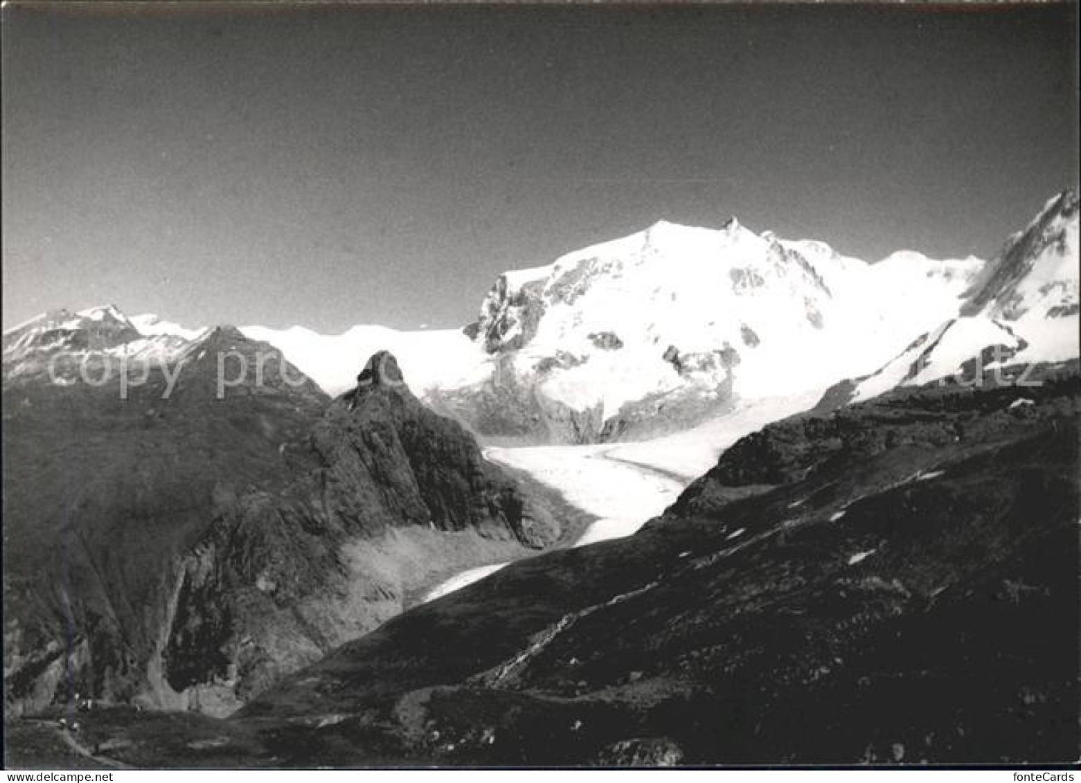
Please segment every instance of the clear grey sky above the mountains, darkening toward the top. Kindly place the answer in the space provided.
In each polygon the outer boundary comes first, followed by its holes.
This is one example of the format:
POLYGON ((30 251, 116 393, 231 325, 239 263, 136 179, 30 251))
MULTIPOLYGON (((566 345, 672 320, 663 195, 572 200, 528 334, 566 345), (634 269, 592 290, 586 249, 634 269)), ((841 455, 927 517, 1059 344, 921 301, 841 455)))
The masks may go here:
POLYGON ((1073 9, 8 4, 3 325, 459 326, 658 219, 991 256, 1077 184, 1073 9))

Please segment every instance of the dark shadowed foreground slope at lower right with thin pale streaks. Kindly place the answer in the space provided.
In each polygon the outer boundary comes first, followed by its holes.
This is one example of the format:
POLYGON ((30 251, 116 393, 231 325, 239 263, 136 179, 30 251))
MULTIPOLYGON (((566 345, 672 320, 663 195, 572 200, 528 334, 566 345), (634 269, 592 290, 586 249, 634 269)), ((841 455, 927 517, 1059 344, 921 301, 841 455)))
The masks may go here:
POLYGON ((297 765, 1072 758, 1078 364, 1039 381, 771 424, 639 534, 409 611, 232 725, 297 765))

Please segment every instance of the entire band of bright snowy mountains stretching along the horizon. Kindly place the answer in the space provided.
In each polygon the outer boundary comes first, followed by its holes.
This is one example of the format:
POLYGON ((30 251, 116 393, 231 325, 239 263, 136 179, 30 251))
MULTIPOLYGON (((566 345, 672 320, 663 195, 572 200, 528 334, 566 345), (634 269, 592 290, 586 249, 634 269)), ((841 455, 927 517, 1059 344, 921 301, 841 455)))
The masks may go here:
MULTIPOLYGON (((1066 191, 990 261, 898 251, 868 264, 736 218, 718 229, 662 220, 504 272, 464 329, 240 330, 330 394, 389 350, 419 395, 482 436, 591 443, 685 431, 845 378, 851 400, 869 399, 995 346, 1015 361, 1069 359, 1078 299, 1078 197, 1066 191)), ((162 356, 204 334, 111 306, 45 313, 4 333, 5 372, 30 366, 22 354, 85 349, 82 332, 101 350, 162 356)))

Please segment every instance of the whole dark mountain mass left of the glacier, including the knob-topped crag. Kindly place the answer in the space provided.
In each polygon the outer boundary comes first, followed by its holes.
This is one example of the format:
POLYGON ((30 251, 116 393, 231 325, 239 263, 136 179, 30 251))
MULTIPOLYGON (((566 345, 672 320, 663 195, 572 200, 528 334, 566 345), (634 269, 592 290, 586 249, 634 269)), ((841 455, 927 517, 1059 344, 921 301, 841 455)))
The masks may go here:
POLYGON ((3 388, 14 713, 79 692, 225 714, 448 569, 559 536, 389 354, 331 402, 231 327, 138 367, 91 346, 96 384, 51 380, 26 334, 3 388))

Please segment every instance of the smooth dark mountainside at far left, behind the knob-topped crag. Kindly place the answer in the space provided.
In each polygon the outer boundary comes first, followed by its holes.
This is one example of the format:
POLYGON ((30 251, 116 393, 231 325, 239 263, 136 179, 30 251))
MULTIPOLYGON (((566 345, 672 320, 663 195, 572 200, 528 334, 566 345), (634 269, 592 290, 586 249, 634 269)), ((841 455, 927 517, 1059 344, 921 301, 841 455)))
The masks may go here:
MULTIPOLYGON (((64 329, 63 346, 93 341, 93 333, 64 329)), ((14 350, 27 347, 22 339, 14 350)), ((311 381, 285 384, 271 370, 257 391, 236 388, 217 399, 214 351, 280 353, 229 329, 186 347, 196 353, 183 366, 137 370, 88 349, 85 356, 110 370, 95 374, 104 382, 78 374, 51 382, 30 372, 48 363, 37 350, 4 375, 10 710, 74 692, 128 699, 152 689, 185 553, 233 498, 282 480, 302 454, 290 446, 326 402, 311 381), (145 372, 145 382, 129 383, 129 370, 145 372)))

